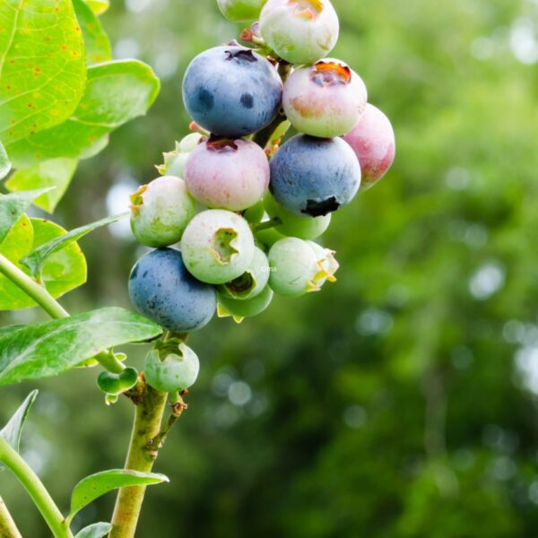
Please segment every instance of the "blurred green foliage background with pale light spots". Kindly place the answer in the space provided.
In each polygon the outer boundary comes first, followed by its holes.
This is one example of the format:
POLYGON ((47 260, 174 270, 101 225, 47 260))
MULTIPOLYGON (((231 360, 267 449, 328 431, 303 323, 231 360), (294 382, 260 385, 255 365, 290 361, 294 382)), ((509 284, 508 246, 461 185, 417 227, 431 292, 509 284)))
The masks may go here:
MULTIPOLYGON (((115 57, 162 79, 143 119, 83 161, 55 219, 123 211, 187 133, 182 74, 237 36, 213 0, 115 0, 115 57)), ((538 2, 334 0, 333 56, 392 119, 394 168, 334 215, 338 282, 193 334, 202 371, 148 490, 138 536, 474 538, 538 534, 538 2)), ((129 307, 143 252, 121 225, 82 240, 76 312, 129 307)), ((34 310, 3 316, 31 322, 34 310)), ((143 347, 129 349, 140 365, 143 347)), ((124 462, 132 405, 97 369, 4 387, 2 417, 40 390, 23 453, 62 507, 85 474, 124 462)), ((8 473, 25 538, 48 536, 8 473)), ((77 525, 106 520, 113 495, 77 525)))

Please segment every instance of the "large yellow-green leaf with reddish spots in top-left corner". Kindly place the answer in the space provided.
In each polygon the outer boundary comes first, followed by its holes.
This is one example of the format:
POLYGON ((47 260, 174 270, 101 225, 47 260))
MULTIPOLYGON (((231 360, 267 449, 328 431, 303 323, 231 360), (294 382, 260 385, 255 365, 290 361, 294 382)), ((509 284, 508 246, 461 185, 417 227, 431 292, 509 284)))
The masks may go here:
POLYGON ((85 62, 71 0, 3 0, 0 25, 0 138, 7 146, 73 114, 85 62))

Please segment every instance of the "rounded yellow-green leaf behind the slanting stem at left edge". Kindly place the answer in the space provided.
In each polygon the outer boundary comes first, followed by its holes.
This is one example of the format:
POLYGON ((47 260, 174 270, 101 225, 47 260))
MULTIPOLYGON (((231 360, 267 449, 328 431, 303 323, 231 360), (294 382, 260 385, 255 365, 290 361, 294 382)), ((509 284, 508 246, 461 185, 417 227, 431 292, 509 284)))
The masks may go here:
MULTIPOLYGON (((24 273, 30 274, 30 271, 22 266, 19 260, 23 256, 28 256, 33 249, 65 233, 65 230, 54 222, 44 219, 29 221, 24 216, 0 244, 0 253, 24 273)), ((86 259, 80 247, 76 243, 70 243, 49 256, 43 265, 40 277, 40 282, 54 298, 78 288, 86 282, 86 259)), ((0 310, 17 310, 35 306, 33 299, 0 274, 0 310)))

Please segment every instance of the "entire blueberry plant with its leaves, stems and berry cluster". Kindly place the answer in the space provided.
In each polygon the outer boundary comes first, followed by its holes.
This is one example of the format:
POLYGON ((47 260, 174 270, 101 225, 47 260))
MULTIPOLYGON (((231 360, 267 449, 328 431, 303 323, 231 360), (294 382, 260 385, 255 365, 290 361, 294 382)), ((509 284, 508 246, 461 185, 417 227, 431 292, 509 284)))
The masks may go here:
MULTIPOLYGON (((268 308, 273 293, 297 298, 334 282, 334 251, 313 239, 395 158, 392 126, 367 102, 360 76, 327 57, 339 34, 328 0, 218 5, 231 21, 252 24, 188 66, 182 91, 193 133, 164 154, 161 176, 130 196, 129 213, 65 230, 29 216, 30 205, 53 213, 79 161, 145 115, 160 82, 140 61, 111 58, 99 19, 105 1, 0 4, 0 172, 9 191, 0 196, 0 308, 40 307, 52 318, 0 328, 0 385, 100 366, 106 404, 120 396, 134 404, 125 468, 83 478, 67 513, 19 452, 37 391, 0 431, 1 468, 56 538, 134 536, 146 487, 168 482, 153 464, 200 370, 188 334, 215 313, 240 323, 268 308), (68 313, 57 299, 87 278, 78 242, 126 218, 152 248, 128 281, 137 313, 68 313), (149 348, 140 372, 117 351, 133 343, 149 348), (109 522, 72 525, 110 490, 118 493, 109 522)), ((20 536, 3 502, 0 531, 20 536)))

